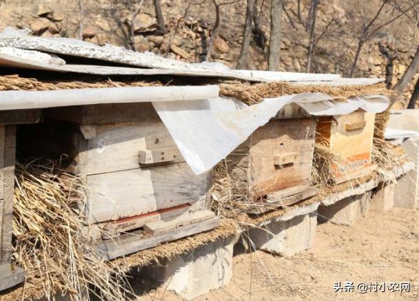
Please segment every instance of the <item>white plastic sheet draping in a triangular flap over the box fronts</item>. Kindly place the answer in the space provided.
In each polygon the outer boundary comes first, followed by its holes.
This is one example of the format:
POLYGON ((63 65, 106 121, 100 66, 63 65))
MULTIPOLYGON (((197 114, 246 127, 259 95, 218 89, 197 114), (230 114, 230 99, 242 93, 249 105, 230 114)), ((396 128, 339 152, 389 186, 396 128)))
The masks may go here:
POLYGON ((378 113, 389 105, 385 96, 356 97, 343 103, 332 101, 323 93, 266 98, 252 106, 225 97, 153 105, 187 164, 195 174, 202 174, 289 103, 296 103, 315 116, 348 114, 358 109, 378 113))

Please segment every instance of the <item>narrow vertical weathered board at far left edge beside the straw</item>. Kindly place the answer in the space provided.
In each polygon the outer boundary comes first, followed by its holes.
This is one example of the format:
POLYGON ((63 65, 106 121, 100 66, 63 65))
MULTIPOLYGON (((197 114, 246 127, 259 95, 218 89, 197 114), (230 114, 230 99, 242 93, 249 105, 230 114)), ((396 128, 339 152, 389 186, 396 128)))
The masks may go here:
POLYGON ((4 144, 3 210, 1 220, 0 264, 9 263, 12 258, 12 220, 14 199, 14 164, 16 155, 16 126, 6 126, 4 144))

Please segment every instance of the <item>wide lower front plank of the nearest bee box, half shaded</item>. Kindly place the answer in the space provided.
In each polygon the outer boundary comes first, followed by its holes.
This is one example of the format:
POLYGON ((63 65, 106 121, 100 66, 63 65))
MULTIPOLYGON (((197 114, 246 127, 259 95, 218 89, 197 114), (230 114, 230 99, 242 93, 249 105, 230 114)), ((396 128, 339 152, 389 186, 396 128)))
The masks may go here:
POLYGON ((90 222, 105 222, 205 200, 209 181, 174 163, 90 175, 87 185, 90 222))

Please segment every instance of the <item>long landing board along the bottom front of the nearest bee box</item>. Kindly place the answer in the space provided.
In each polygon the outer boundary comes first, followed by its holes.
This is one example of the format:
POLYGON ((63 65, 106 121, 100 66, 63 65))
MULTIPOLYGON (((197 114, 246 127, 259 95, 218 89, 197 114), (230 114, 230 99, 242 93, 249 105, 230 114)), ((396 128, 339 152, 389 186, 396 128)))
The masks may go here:
POLYGON ((196 222, 192 225, 179 227, 173 231, 167 231, 148 238, 141 238, 143 237, 143 231, 134 231, 132 233, 126 233, 114 240, 103 240, 102 242, 99 242, 98 251, 105 260, 112 260, 136 251, 156 247, 156 245, 160 245, 163 242, 170 242, 185 236, 192 236, 196 233, 209 231, 218 227, 218 225, 220 225, 220 219, 216 217, 211 218, 210 220, 204 220, 203 222, 196 222))

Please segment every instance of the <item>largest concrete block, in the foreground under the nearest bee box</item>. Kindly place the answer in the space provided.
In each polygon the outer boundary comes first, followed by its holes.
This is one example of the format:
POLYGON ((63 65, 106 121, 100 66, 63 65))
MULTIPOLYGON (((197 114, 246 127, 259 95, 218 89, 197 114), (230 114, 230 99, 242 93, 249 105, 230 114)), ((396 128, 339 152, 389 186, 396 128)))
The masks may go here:
POLYGON ((238 236, 175 256, 164 264, 142 269, 141 278, 156 280, 163 287, 190 300, 212 289, 224 287, 232 279, 233 248, 238 236))

